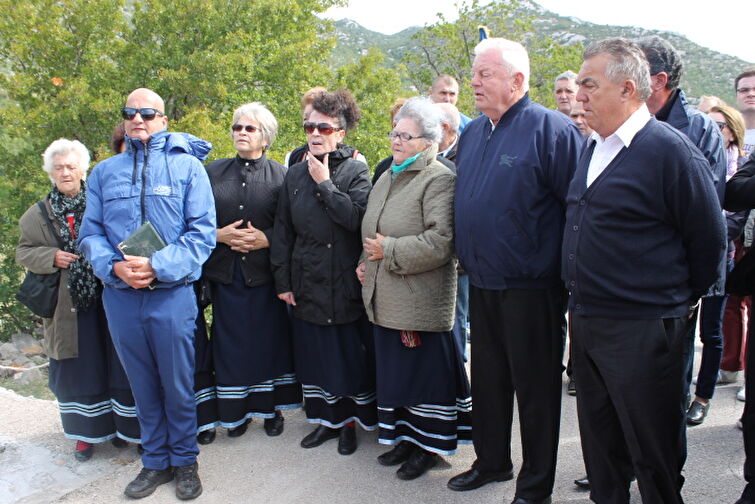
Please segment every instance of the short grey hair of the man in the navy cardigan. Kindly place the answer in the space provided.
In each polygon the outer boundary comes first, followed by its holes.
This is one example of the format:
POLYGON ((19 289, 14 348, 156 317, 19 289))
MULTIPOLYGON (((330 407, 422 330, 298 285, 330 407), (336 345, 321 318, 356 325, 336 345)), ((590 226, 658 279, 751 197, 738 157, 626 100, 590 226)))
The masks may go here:
POLYGON ((582 58, 588 60, 599 54, 609 56, 606 64, 608 79, 616 84, 630 79, 637 86, 637 97, 640 100, 644 102, 650 98, 650 67, 640 46, 623 37, 605 38, 587 46, 582 58))

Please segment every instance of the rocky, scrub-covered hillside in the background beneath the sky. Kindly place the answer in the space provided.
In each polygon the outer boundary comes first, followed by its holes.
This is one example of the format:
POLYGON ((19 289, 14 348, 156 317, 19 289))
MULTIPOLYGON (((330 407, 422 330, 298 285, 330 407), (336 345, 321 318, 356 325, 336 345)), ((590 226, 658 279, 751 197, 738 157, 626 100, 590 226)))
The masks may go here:
MULTIPOLYGON (((669 40, 683 54, 685 73, 682 78, 682 87, 693 99, 703 94, 713 94, 722 97, 728 103, 733 103, 734 77, 742 69, 753 64, 735 56, 702 47, 673 32, 598 25, 573 17, 559 16, 532 3, 524 10, 535 17, 534 24, 538 31, 553 37, 562 44, 577 42, 587 44, 609 36, 635 38, 658 35, 669 40)), ((421 30, 420 27, 412 27, 394 35, 384 35, 370 31, 350 19, 336 21, 335 27, 338 37, 338 43, 332 54, 335 65, 354 61, 373 46, 386 54, 386 65, 393 65, 406 51, 415 49, 411 37, 421 30)))

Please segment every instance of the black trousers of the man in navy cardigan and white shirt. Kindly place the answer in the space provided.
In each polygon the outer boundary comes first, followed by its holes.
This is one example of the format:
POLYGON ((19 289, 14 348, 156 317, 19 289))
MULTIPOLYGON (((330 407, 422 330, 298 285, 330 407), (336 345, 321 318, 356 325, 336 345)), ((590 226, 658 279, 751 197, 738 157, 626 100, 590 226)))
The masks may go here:
POLYGON ((573 315, 582 453, 597 503, 629 502, 632 474, 644 504, 681 503, 685 442, 682 360, 688 320, 573 315))

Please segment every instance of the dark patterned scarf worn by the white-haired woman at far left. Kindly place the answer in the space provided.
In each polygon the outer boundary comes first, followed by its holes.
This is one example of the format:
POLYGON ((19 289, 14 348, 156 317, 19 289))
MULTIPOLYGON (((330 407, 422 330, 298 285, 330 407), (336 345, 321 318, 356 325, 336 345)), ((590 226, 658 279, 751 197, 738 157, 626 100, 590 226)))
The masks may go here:
POLYGON ((99 283, 92 271, 92 265, 84 259, 81 252, 76 248, 76 237, 79 235, 79 227, 86 207, 86 185, 84 181, 81 181, 79 194, 73 198, 64 196, 58 191, 57 187, 53 186, 52 191, 50 191, 50 205, 55 217, 53 226, 57 227, 58 235, 63 239, 65 245, 63 250, 81 256, 78 261, 72 262, 68 267, 68 291, 71 293, 73 306, 76 310, 86 310, 97 296, 99 283), (72 218, 73 233, 71 233, 69 217, 72 218))

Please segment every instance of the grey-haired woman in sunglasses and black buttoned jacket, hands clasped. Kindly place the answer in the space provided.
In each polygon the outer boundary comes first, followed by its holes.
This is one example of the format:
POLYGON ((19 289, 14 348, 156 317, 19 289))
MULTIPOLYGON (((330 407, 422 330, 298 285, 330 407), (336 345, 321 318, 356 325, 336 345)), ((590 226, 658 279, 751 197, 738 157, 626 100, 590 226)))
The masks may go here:
POLYGON ((278 197, 286 169, 265 156, 278 123, 260 103, 233 113, 235 158, 207 165, 218 219, 217 248, 204 265, 212 298, 212 354, 220 422, 244 434, 264 418, 265 432, 283 432, 281 410, 301 406, 286 304, 276 296, 270 266, 278 197))

